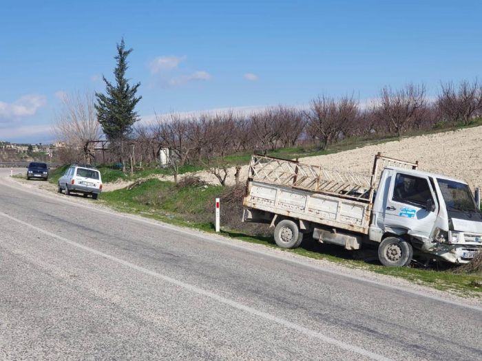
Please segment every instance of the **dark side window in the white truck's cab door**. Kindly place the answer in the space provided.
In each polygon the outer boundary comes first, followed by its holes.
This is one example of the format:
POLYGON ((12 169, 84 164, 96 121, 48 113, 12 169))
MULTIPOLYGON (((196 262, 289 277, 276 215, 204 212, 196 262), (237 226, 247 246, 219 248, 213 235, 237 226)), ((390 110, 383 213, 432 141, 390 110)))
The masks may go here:
POLYGON ((428 199, 432 199, 433 202, 427 179, 397 173, 392 200, 424 207, 428 199))

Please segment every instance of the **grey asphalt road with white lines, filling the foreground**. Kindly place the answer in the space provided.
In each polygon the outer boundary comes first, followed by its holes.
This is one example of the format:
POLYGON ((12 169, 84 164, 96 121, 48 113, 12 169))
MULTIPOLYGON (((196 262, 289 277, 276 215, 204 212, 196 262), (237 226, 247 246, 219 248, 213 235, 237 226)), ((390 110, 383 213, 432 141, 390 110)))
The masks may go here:
POLYGON ((1 360, 481 360, 482 309, 2 179, 1 360))

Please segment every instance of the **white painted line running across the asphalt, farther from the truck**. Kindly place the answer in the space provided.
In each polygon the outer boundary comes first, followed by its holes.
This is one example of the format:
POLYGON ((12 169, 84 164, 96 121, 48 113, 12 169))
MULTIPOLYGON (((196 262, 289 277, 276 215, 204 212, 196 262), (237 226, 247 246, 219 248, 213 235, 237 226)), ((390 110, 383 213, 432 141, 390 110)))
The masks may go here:
POLYGON ((238 303, 235 300, 231 300, 229 298, 222 297, 218 294, 215 294, 214 292, 207 291, 206 289, 202 289, 200 287, 196 287, 194 285, 191 285, 189 283, 185 283, 182 281, 176 280, 176 278, 171 278, 169 276, 166 276, 165 274, 160 274, 159 272, 151 271, 148 270, 145 267, 141 267, 139 265, 136 265, 134 263, 130 263, 128 261, 124 261, 123 259, 118 259, 115 256, 111 256, 110 254, 101 252, 99 250, 96 250, 94 248, 87 247, 86 245, 82 245, 80 243, 77 243, 75 241, 71 241, 70 239, 66 239, 64 237, 58 236, 57 234, 54 234, 52 232, 49 232, 47 230, 43 230, 42 228, 32 226, 31 224, 21 221, 20 219, 11 217, 10 215, 7 215, 6 213, 0 212, 0 215, 3 217, 6 217, 12 221, 15 221, 17 223, 22 224, 25 227, 32 228, 33 230, 36 230, 37 232, 41 232, 43 234, 48 235, 49 237, 52 237, 54 239, 59 239, 59 241, 63 241, 67 244, 74 245, 76 248, 81 248, 82 250, 85 250, 87 252, 90 252, 92 254, 96 254, 97 256, 101 256, 105 259, 109 259, 110 261, 114 261, 116 263, 120 263, 121 265, 125 265, 127 267, 132 268, 133 270, 136 270, 138 272, 143 272, 145 274, 149 274, 149 276, 154 276, 156 278, 160 278, 166 282, 169 282, 173 285, 176 285, 178 287, 182 287, 185 289, 188 289, 191 292, 194 292, 196 294, 200 294, 202 296, 207 296, 209 298, 212 298, 213 300, 217 300, 220 303, 224 303, 225 305, 229 305, 233 308, 240 309, 242 311, 245 311, 249 314, 259 316, 261 318, 264 318, 266 320, 273 321, 279 325, 282 325, 286 328, 293 329, 295 331, 298 331, 300 333, 304 333, 306 336, 311 336, 313 338, 318 338, 319 340, 322 340, 323 342, 333 344, 336 347, 339 347, 340 349, 344 349, 346 351, 350 352, 355 352, 358 353, 359 355, 366 356, 368 358, 372 358, 373 360, 390 360, 390 358, 386 358, 383 355, 379 355, 377 353, 373 353, 370 351, 367 351, 365 349, 362 349, 361 347, 353 346, 351 344, 347 344, 345 342, 336 340, 335 338, 331 338, 329 336, 324 335, 323 333, 313 331, 312 329, 308 329, 306 327, 302 327, 300 325, 297 325, 294 322, 290 322, 289 320, 284 320, 284 318, 279 318, 277 316, 273 316, 272 314, 269 314, 267 312, 259 311, 258 309, 255 309, 253 307, 249 307, 247 305, 243 305, 242 303, 238 303))

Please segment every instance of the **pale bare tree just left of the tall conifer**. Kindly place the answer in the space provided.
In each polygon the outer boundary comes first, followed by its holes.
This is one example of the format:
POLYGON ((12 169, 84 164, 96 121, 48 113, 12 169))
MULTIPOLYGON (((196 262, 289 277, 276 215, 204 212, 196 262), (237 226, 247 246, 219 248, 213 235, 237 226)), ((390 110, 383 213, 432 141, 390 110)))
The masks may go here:
POLYGON ((56 114, 53 126, 57 140, 65 142, 67 148, 77 151, 78 156, 88 140, 102 137, 102 127, 98 123, 94 107, 94 94, 90 91, 77 91, 65 94, 62 107, 56 114))

